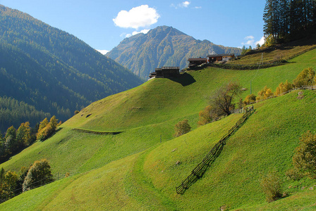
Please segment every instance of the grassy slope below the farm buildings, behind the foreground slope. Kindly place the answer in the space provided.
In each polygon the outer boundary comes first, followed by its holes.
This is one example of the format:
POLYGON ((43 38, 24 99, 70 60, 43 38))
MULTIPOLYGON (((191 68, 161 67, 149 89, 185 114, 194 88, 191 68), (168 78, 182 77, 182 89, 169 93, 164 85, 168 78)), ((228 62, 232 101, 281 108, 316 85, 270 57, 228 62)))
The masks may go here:
MULTIPOLYGON (((178 82, 170 79, 150 80, 135 89, 92 103, 65 122, 63 129, 51 139, 35 143, 3 166, 5 169, 18 170, 23 165, 30 165, 34 160, 45 157, 51 160, 56 174, 82 172, 80 168, 86 165, 89 167, 83 168, 90 170, 94 168, 95 160, 100 158, 102 162, 99 160, 97 167, 101 167, 107 162, 149 148, 160 141, 160 135, 162 141, 171 139, 174 124, 184 118, 188 118, 190 125, 196 128, 198 112, 207 105, 207 96, 224 82, 238 79, 250 88, 247 83, 253 79, 254 93, 265 85, 275 89, 279 82, 294 79, 302 68, 315 65, 315 52, 305 53, 292 63, 277 68, 259 71, 207 68, 190 71, 178 82), (87 134, 74 131, 76 128, 122 133, 87 134), (69 154, 72 156, 68 157, 69 154), (88 160, 89 164, 86 164, 88 160), (72 162, 77 165, 69 165, 72 162)), ((248 91, 243 96, 247 94, 248 91)))

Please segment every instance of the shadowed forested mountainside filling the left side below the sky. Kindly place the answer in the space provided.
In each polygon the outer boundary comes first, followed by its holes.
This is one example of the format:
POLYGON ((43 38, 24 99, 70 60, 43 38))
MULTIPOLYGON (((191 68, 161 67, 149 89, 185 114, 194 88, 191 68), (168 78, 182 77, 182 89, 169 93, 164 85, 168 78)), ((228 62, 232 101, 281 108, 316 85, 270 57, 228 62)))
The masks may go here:
MULTIPOLYGON (((75 36, 0 5, 0 97, 27 103, 37 113, 64 121, 92 101, 141 83, 132 72, 75 36)), ((13 109, 15 117, 1 117, 1 129, 25 121, 25 108, 2 105, 1 110, 13 109)), ((35 125, 37 119, 30 117, 30 124, 35 125)))

